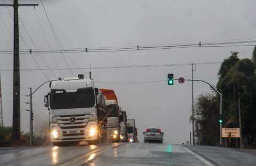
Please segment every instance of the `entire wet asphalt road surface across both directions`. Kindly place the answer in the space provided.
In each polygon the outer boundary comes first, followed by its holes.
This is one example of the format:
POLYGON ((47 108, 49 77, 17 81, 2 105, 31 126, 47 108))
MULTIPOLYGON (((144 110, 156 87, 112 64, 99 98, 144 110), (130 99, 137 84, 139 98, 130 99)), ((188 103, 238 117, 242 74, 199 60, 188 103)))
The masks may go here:
POLYGON ((0 165, 256 165, 256 153, 211 146, 125 143, 0 148, 0 165))

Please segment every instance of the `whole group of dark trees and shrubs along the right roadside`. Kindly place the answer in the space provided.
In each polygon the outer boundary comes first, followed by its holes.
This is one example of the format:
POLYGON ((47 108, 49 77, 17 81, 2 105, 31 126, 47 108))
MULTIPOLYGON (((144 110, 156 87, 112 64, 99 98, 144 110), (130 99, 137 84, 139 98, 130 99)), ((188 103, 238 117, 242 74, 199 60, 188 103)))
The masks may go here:
MULTIPOLYGON (((252 59, 239 59, 237 52, 231 52, 231 56, 221 64, 218 76, 217 89, 222 93, 223 127, 239 127, 239 97, 244 144, 256 145, 256 46, 252 59)), ((198 144, 218 144, 218 119, 219 96, 200 95, 195 104, 198 144)))

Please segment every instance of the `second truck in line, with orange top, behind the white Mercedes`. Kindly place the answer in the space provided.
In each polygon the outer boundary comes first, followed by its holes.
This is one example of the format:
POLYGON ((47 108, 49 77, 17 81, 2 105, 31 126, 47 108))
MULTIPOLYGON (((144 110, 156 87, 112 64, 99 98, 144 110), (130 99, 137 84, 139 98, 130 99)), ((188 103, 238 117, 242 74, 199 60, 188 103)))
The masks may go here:
POLYGON ((120 141, 119 106, 114 90, 100 89, 107 104, 107 138, 112 142, 120 141))

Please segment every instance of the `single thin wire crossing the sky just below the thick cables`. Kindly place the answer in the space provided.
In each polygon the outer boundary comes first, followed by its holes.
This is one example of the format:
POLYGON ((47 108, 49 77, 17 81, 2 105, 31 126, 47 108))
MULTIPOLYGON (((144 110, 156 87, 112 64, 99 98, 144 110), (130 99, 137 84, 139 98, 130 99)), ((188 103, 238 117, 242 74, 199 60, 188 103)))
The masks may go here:
MULTIPOLYGON (((195 63, 197 65, 207 65, 207 64, 221 64, 222 62, 204 62, 195 63)), ((145 68, 145 67, 169 67, 169 66, 190 66, 191 63, 183 64, 161 64, 161 65, 131 65, 131 66, 106 66, 106 67, 81 67, 81 68, 51 68, 52 71, 58 70, 79 70, 79 69, 111 69, 111 68, 145 68)), ((49 69, 20 69, 20 71, 47 71, 49 69)), ((13 71, 13 69, 0 69, 0 71, 13 71)))

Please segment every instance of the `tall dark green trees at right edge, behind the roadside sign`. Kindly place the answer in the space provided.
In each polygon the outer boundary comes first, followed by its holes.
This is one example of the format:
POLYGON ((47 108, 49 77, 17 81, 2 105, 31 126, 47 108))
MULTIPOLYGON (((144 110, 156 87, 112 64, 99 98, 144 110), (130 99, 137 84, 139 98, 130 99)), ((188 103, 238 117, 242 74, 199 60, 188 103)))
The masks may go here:
MULTIPOLYGON (((236 54, 237 55, 237 54, 236 54)), ((251 59, 239 59, 231 55, 221 64, 218 90, 222 93, 222 119, 224 127, 239 127, 238 95, 241 98, 243 137, 256 139, 256 47, 251 59)))

